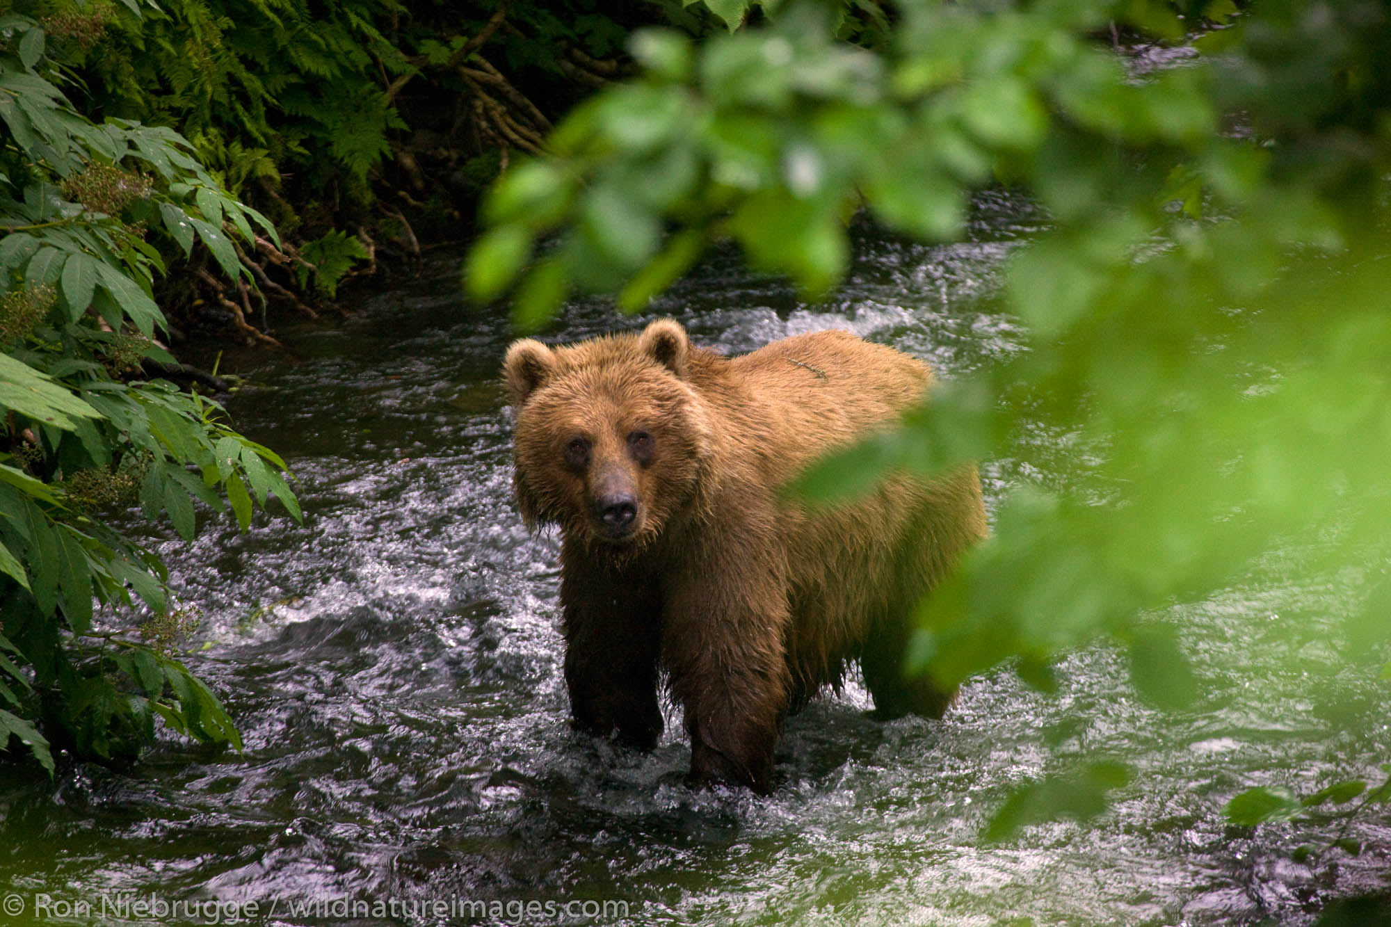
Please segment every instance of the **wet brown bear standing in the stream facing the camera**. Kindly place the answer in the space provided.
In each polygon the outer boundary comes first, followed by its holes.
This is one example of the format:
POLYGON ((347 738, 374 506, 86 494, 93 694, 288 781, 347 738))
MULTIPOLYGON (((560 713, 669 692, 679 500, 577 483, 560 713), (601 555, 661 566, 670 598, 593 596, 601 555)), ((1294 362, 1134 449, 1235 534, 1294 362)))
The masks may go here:
POLYGON ((766 793, 783 718, 858 660, 885 717, 951 699, 906 678, 918 599, 986 533, 974 468, 825 509, 780 491, 922 401, 925 363, 846 331, 726 358, 669 319, 508 349, 516 500, 561 526, 565 682, 579 728, 651 749, 665 672, 697 781, 766 793))

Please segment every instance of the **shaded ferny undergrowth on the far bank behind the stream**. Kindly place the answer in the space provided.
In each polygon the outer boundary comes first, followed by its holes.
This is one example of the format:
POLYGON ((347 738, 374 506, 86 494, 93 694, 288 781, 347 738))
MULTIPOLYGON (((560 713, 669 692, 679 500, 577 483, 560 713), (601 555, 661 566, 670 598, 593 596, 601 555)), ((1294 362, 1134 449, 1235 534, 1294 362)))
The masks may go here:
POLYGON ((287 235, 396 234, 398 209, 447 232, 510 149, 540 150, 618 72, 630 25, 662 19, 586 0, 60 6, 86 24, 71 67, 92 111, 177 127, 287 235))

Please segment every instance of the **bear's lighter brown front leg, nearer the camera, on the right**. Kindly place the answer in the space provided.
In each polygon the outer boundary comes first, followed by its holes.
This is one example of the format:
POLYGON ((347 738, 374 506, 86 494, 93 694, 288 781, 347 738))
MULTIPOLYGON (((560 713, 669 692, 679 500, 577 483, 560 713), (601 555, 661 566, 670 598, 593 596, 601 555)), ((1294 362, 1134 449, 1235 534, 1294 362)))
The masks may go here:
POLYGON ((789 615, 780 571, 765 557, 730 557, 747 550, 719 551, 668 590, 662 663, 686 711, 696 782, 766 795, 791 690, 789 615))

